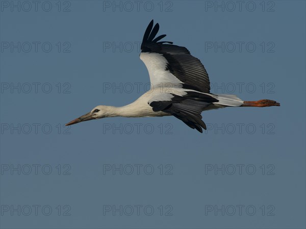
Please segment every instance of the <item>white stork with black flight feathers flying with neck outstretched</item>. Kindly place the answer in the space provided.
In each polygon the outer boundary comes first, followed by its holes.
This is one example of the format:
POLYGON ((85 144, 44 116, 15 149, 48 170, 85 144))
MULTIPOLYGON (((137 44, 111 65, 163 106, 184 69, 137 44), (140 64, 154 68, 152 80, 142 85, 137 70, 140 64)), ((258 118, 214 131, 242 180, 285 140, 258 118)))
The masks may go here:
POLYGON ((202 129, 206 130, 202 111, 225 107, 280 106, 269 99, 243 101, 236 95, 210 93, 208 73, 200 60, 193 57, 186 47, 160 41, 166 35, 156 37, 159 24, 153 26, 154 21, 151 20, 145 30, 140 53, 149 73, 151 90, 123 107, 97 106, 66 125, 106 117, 173 115, 202 133, 202 129))

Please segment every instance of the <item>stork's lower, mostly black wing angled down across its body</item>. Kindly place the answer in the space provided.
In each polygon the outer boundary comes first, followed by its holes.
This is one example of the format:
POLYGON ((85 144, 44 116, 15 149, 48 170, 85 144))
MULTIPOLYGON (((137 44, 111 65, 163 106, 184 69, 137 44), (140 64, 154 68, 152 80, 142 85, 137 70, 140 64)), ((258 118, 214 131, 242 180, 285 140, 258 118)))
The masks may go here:
POLYGON ((167 94, 164 100, 153 98, 149 105, 153 111, 169 113, 202 133, 202 128, 206 130, 206 124, 202 121, 201 112, 217 101, 210 95, 188 91, 184 96, 167 94))

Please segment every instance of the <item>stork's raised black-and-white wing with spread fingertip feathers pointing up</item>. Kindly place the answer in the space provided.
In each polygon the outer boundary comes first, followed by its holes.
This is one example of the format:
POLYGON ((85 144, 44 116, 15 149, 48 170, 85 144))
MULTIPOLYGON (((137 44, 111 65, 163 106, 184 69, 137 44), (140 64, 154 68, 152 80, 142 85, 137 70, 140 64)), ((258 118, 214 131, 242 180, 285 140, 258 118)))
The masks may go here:
POLYGON ((159 24, 154 28, 153 24, 151 20, 144 33, 140 54, 140 59, 148 69, 151 84, 155 87, 170 84, 171 87, 209 93, 208 73, 200 60, 191 56, 185 47, 160 41, 165 34, 155 38, 159 24))

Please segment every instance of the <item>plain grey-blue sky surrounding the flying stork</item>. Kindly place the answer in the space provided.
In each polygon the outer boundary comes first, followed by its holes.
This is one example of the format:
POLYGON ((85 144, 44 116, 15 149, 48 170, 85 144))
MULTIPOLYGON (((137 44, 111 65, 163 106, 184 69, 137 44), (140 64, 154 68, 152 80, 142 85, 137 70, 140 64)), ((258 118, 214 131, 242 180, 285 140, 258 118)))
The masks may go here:
POLYGON ((305 228, 304 1, 0 1, 1 228, 305 228), (211 92, 281 107, 65 123, 149 89, 151 19, 211 92))

